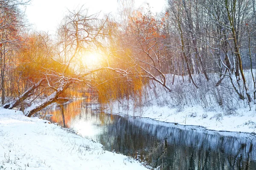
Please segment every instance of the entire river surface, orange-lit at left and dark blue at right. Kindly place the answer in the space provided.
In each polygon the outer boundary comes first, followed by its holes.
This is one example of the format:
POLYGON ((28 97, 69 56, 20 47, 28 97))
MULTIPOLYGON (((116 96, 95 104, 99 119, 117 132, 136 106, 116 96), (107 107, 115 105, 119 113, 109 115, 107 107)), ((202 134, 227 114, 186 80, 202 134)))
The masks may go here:
POLYGON ((77 100, 50 119, 115 151, 162 170, 256 170, 256 137, 145 118, 95 113, 77 100), (64 113, 64 114, 62 114, 64 113))

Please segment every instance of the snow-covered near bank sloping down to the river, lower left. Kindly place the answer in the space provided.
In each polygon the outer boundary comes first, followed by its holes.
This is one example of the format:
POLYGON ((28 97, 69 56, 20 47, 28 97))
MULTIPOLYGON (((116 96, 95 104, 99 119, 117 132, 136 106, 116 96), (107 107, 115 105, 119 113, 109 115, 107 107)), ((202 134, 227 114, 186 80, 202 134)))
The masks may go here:
POLYGON ((0 109, 0 170, 143 170, 134 159, 102 149, 46 120, 0 109))

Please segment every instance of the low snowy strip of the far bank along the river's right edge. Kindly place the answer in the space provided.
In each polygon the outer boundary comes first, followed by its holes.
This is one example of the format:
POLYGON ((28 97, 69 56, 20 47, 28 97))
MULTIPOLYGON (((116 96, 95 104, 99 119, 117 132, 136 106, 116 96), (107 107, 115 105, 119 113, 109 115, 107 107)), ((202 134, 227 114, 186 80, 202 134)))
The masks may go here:
POLYGON ((207 110, 201 106, 184 107, 181 111, 168 106, 150 106, 134 109, 122 107, 116 103, 106 112, 119 113, 129 116, 151 118, 161 122, 177 123, 179 125, 202 126, 208 130, 256 133, 256 111, 252 108, 241 108, 232 114, 225 113, 222 109, 207 110))

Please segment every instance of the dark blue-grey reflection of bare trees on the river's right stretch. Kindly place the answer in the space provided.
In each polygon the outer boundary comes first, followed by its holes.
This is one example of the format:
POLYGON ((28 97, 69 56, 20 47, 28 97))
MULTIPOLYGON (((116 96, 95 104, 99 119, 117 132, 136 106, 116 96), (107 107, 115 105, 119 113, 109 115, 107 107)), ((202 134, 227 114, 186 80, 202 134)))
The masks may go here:
POLYGON ((255 142, 250 139, 188 129, 116 116, 115 125, 108 127, 109 135, 101 135, 100 141, 108 150, 125 155, 138 152, 142 160, 161 169, 256 169, 255 142))

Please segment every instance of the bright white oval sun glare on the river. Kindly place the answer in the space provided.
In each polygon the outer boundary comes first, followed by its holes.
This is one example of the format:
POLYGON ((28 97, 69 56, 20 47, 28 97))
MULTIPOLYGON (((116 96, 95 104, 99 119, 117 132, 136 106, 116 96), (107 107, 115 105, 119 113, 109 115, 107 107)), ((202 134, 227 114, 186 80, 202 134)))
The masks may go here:
POLYGON ((81 136, 95 136, 102 132, 96 125, 93 125, 91 122, 79 121, 76 124, 72 124, 72 128, 76 130, 81 136))

